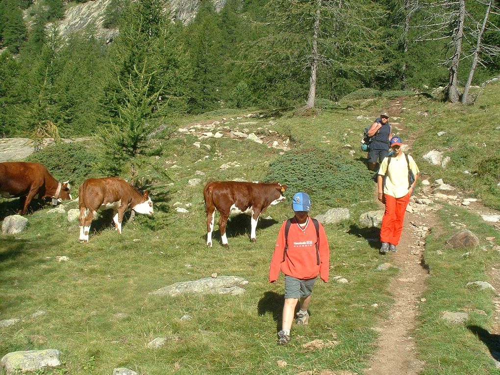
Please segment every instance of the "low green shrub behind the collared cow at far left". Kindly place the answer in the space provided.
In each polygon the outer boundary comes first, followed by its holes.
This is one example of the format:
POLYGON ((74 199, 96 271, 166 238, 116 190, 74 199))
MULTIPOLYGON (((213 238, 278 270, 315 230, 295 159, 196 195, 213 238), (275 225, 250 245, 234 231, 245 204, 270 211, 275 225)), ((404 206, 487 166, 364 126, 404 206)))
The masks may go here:
MULTIPOLYGON (((79 186, 83 180, 92 176, 94 155, 78 142, 56 143, 29 155, 26 161, 36 161, 45 165, 58 181, 79 186)), ((73 187, 72 191, 76 191, 73 187)))

